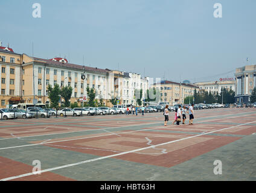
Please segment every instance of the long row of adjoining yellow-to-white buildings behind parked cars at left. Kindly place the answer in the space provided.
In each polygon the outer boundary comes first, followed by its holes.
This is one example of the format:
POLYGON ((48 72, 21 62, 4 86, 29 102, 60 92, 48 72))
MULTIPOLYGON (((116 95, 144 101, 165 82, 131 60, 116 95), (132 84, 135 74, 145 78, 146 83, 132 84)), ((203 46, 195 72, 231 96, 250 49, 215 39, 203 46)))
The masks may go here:
POLYGON ((120 99, 121 104, 134 104, 134 90, 148 89, 147 79, 136 73, 75 65, 62 58, 40 59, 17 54, 5 47, 0 47, 0 69, 2 108, 18 103, 33 103, 33 98, 38 103, 50 104, 49 84, 71 86, 71 103, 80 103, 81 98, 87 98, 86 88, 94 88, 95 98, 98 101, 103 99, 106 106, 112 106, 112 97, 120 99), (85 75, 84 80, 82 75, 85 75))

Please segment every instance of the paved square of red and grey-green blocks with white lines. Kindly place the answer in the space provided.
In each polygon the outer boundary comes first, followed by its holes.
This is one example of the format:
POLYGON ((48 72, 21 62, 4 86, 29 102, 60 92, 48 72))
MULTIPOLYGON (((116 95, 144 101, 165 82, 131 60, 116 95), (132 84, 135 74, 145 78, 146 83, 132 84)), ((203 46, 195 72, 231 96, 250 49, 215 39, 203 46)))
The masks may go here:
POLYGON ((256 109, 0 121, 1 180, 256 180, 256 109), (34 160, 41 174, 33 174, 34 160), (222 174, 214 174, 215 160, 222 174))

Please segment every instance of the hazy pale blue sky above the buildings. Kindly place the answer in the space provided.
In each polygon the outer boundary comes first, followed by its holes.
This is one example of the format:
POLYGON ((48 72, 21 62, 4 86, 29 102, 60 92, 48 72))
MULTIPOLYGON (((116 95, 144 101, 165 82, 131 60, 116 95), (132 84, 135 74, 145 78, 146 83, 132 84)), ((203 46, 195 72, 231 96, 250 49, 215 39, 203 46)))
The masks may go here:
POLYGON ((14 52, 179 81, 232 77, 256 62, 255 0, 0 1, 14 52), (222 4, 222 18, 213 16, 222 4), (42 17, 32 16, 34 3, 42 17), (231 72, 233 71, 233 72, 231 72), (229 73, 227 73, 229 72, 229 73))

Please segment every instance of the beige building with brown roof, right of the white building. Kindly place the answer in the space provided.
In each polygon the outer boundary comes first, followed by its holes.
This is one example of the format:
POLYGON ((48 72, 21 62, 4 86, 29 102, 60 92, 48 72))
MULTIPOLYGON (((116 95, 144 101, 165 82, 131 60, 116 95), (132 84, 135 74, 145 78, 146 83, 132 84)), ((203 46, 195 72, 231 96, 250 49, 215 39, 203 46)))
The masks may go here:
POLYGON ((159 102, 168 102, 170 106, 184 104, 187 96, 193 96, 194 90, 196 92, 199 91, 199 87, 193 84, 176 83, 173 81, 161 81, 161 83, 155 83, 151 87, 160 90, 161 97, 159 102))

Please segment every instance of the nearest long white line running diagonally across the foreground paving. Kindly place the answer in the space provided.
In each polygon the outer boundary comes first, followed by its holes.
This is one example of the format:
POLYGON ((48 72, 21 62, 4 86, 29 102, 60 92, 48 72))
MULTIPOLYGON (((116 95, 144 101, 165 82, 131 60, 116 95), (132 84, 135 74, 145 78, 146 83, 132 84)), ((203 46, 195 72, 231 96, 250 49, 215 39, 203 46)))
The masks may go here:
POLYGON ((75 166, 75 165, 81 165, 81 164, 83 164, 83 163, 95 162, 95 161, 97 161, 97 160, 103 160, 103 159, 107 159, 107 158, 110 158, 110 157, 117 157, 117 156, 122 156, 122 155, 124 155, 124 154, 135 153, 135 152, 137 152, 137 151, 147 150, 147 149, 149 149, 149 148, 159 147, 159 146, 161 146, 161 145, 173 144, 173 143, 175 143, 175 142, 179 142, 179 141, 183 141, 183 140, 191 139, 191 138, 196 138, 196 137, 199 137, 199 136, 202 136, 202 135, 205 135, 205 134, 210 134, 210 133, 215 133, 215 132, 217 132, 217 131, 227 130, 227 129, 229 129, 229 128, 240 127, 240 126, 242 126, 242 125, 248 125, 248 124, 251 124, 251 123, 253 123, 253 122, 256 122, 256 121, 247 122, 247 123, 245 123, 245 124, 235 125, 235 126, 232 126, 232 127, 222 128, 222 129, 219 129, 219 130, 210 131, 210 132, 208 132, 208 133, 197 134, 196 136, 190 136, 190 137, 187 137, 187 138, 177 139, 177 140, 174 140, 174 141, 169 141, 169 142, 165 142, 165 143, 158 144, 158 145, 152 145, 152 146, 150 146, 150 147, 139 148, 139 149, 136 149, 136 150, 126 151, 126 152, 123 152, 123 153, 118 153, 118 154, 113 154, 113 155, 103 156, 103 157, 97 157, 97 158, 95 158, 95 159, 89 159, 89 160, 85 160, 85 161, 82 161, 82 162, 71 163, 71 164, 68 164, 68 165, 57 166, 57 167, 49 168, 49 169, 43 169, 43 170, 41 170, 41 171, 37 171, 37 172, 34 172, 34 173, 33 173, 33 172, 30 172, 30 173, 22 174, 22 175, 19 175, 19 176, 7 177, 7 178, 5 178, 5 179, 1 179, 0 181, 7 181, 7 180, 19 179, 19 178, 21 178, 21 177, 32 176, 32 175, 37 174, 37 173, 39 173, 39 172, 40 172, 40 173, 49 172, 49 171, 54 171, 54 170, 57 170, 57 169, 68 168, 68 167, 75 166))

